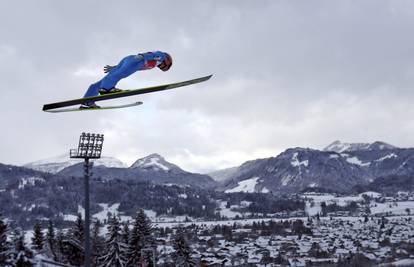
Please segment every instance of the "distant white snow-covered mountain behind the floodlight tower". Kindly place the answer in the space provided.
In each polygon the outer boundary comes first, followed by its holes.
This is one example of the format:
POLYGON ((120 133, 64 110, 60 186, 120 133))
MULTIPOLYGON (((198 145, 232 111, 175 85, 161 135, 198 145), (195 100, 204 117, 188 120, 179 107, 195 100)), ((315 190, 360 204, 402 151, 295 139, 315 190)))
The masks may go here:
MULTIPOLYGON (((79 159, 71 159, 67 153, 47 158, 35 162, 30 162, 24 165, 24 167, 47 172, 47 173, 58 173, 61 170, 76 165, 78 163, 82 162, 79 159)), ((113 158, 113 157, 101 157, 100 159, 94 160, 95 166, 105 166, 108 168, 126 168, 127 165, 120 161, 119 159, 113 158)))

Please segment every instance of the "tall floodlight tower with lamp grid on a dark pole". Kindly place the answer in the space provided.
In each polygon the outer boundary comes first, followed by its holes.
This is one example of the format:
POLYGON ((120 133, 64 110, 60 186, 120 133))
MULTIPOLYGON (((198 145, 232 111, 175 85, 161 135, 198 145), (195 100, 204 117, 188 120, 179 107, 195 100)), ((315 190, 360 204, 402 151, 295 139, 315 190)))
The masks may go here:
POLYGON ((89 177, 90 168, 93 162, 90 159, 99 159, 101 157, 103 134, 82 133, 79 137, 79 146, 70 150, 70 157, 75 159, 84 159, 85 174, 85 267, 90 267, 90 210, 89 210, 89 177))

